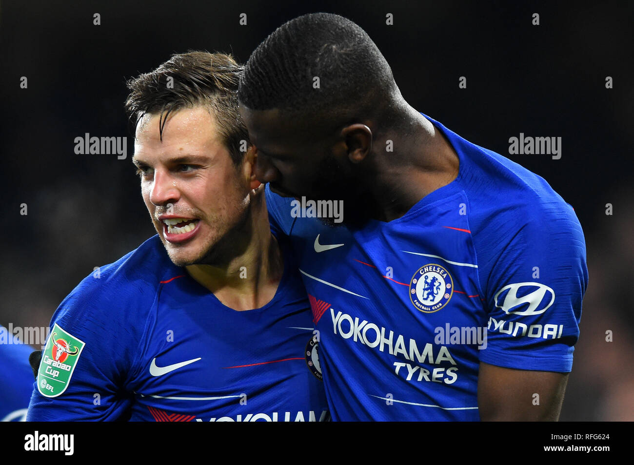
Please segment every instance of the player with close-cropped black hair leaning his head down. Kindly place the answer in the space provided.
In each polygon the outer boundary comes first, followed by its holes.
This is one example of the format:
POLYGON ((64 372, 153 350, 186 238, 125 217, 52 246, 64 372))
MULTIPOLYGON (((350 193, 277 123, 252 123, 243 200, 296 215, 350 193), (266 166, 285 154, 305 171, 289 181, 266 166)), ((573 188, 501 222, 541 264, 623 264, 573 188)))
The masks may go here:
POLYGON ((588 270, 573 208, 544 179, 412 108, 338 15, 269 35, 238 99, 333 419, 559 417, 588 270))

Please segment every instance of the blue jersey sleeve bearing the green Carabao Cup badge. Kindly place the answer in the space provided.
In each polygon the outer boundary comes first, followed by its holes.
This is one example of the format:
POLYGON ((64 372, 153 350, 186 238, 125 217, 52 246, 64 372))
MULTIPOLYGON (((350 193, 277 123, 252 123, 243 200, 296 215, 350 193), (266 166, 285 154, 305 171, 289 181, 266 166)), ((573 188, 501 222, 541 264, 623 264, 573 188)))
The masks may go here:
POLYGON ((152 298, 120 267, 126 257, 86 277, 60 304, 42 353, 27 421, 123 419, 152 298))

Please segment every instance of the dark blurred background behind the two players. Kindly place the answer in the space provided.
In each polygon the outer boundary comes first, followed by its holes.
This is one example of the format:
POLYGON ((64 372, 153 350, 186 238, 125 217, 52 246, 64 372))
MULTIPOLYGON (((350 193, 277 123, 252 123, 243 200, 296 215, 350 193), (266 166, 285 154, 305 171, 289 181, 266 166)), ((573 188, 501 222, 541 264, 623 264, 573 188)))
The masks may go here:
POLYGON ((94 267, 154 234, 132 138, 126 160, 74 153, 75 137, 86 132, 131 136, 126 79, 191 49, 244 62, 281 23, 328 11, 368 32, 417 110, 541 175, 573 205, 590 284, 561 419, 634 419, 634 3, 299 4, 0 2, 0 193, 8 220, 0 233, 0 324, 48 326, 94 267), (385 24, 387 13, 394 25, 385 24), (520 132, 562 137, 562 157, 508 155, 508 138, 520 132))

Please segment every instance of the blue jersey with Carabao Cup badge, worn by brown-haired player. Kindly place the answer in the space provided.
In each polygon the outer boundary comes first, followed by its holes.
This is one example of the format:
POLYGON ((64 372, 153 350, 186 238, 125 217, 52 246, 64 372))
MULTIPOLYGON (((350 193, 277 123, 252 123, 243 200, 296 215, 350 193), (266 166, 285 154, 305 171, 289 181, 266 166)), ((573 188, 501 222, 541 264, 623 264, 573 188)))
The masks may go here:
POLYGON ((283 256, 273 300, 247 311, 172 264, 158 236, 101 267, 53 315, 27 421, 330 419, 306 291, 283 256))

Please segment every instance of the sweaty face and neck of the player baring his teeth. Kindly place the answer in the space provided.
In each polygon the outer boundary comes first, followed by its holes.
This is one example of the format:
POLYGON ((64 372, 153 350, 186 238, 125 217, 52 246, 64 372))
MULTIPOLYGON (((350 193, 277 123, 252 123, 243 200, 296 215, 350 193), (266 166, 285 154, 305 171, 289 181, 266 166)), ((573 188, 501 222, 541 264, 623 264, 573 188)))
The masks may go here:
POLYGON ((165 250, 227 307, 263 307, 275 296, 283 261, 269 229, 264 186, 253 173, 254 151, 235 167, 215 118, 202 106, 171 113, 162 137, 159 121, 148 114, 139 122, 133 162, 165 250), (181 240, 167 232, 165 217, 191 219, 196 229, 181 240))

